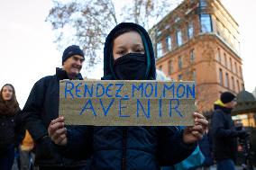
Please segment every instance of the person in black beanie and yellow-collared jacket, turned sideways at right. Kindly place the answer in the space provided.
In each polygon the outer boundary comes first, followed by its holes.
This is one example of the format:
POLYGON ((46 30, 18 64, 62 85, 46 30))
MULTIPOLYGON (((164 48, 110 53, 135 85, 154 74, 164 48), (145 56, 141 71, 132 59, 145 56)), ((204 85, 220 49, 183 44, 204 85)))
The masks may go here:
POLYGON ((215 102, 212 116, 211 134, 217 170, 234 170, 237 155, 237 138, 245 137, 245 130, 235 130, 231 112, 236 105, 235 95, 230 92, 221 94, 215 102))

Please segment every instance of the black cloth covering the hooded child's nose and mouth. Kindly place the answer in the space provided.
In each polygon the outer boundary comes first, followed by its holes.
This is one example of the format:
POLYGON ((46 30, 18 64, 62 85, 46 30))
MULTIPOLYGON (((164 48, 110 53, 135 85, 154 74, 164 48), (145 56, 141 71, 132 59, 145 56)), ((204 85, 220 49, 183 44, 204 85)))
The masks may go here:
POLYGON ((145 80, 146 54, 128 53, 114 60, 114 74, 119 80, 145 80))

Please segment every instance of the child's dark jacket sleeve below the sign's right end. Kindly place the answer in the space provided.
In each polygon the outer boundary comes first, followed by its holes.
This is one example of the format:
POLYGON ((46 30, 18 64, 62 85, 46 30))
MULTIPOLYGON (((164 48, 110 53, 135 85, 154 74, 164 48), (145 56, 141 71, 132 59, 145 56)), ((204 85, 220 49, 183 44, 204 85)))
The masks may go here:
POLYGON ((183 130, 177 127, 160 127, 158 157, 160 166, 172 166, 186 159, 197 147, 197 143, 183 142, 183 130))

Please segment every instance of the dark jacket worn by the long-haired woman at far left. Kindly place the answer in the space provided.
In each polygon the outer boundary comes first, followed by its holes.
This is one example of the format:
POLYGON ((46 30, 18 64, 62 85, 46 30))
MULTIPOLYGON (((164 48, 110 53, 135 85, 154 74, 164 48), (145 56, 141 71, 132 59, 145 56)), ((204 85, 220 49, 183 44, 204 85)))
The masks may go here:
POLYGON ((0 113, 0 152, 10 147, 18 147, 25 130, 21 112, 14 115, 0 113))

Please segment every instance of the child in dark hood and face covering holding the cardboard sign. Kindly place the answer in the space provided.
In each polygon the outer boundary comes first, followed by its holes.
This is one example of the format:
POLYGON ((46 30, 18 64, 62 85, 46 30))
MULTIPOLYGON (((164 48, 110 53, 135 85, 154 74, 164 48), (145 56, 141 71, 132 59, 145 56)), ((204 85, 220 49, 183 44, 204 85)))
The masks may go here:
MULTIPOLYGON (((131 22, 115 26, 105 40, 102 80, 155 79, 155 58, 147 31, 131 22)), ((196 148, 207 121, 201 114, 194 113, 194 116, 196 125, 185 130, 83 126, 68 131, 64 128, 64 118, 59 117, 51 121, 49 135, 55 144, 65 146, 69 157, 92 156, 92 169, 155 170, 180 162, 196 148)))

